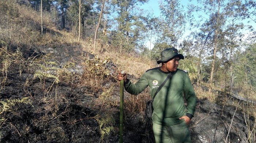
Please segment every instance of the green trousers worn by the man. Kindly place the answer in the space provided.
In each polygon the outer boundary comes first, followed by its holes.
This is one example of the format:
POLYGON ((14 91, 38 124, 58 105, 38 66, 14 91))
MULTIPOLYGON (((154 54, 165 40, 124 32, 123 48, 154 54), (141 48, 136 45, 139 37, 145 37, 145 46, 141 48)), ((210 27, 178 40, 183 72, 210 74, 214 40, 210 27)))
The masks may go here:
POLYGON ((155 143, 191 143, 186 122, 174 126, 162 126, 153 122, 155 143))

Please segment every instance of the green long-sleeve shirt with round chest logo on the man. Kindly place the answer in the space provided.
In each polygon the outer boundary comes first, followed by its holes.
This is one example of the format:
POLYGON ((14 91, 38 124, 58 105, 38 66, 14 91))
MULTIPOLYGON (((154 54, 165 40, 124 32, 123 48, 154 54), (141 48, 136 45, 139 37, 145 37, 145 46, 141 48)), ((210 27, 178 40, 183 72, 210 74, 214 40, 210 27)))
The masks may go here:
MULTIPOLYGON (((160 67, 149 69, 135 84, 127 79, 125 90, 130 94, 138 95, 149 86, 152 98, 168 74, 169 72, 162 71, 160 67)), ((164 126, 172 126, 183 122, 179 118, 186 114, 193 116, 196 108, 195 91, 187 73, 177 69, 172 74, 172 79, 167 80, 153 102, 152 121, 164 126), (183 93, 188 103, 187 109, 184 105, 183 93)))

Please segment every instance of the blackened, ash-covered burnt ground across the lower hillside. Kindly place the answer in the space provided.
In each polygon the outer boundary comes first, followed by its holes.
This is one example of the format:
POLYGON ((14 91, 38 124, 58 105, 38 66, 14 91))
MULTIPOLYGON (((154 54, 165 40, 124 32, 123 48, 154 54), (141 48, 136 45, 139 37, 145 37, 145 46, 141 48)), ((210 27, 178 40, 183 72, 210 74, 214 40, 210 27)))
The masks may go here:
MULTIPOLYGON (((69 79, 60 79, 58 83, 52 78, 35 78, 35 69, 20 73, 13 67, 0 91, 1 107, 6 108, 0 113, 0 142, 119 143, 119 104, 116 103, 120 100, 120 87, 114 78, 116 65, 112 61, 101 65, 110 71, 110 75, 102 77, 105 79, 101 83, 103 91, 95 91, 87 85, 90 83, 86 84, 87 79, 83 79, 86 65, 80 59, 83 56, 93 61, 95 56, 83 51, 78 44, 32 47, 30 51, 33 52, 24 51, 23 55, 57 61, 58 64, 52 67, 61 69, 67 63, 75 65, 66 68, 69 79), (112 98, 102 102, 104 100, 99 98, 110 85, 113 87, 112 98), (8 103, 7 106, 4 103, 8 103)), ((125 100, 131 96, 125 92, 125 100)), ((195 117, 189 124, 192 142, 225 143, 229 132, 227 142, 247 143, 249 134, 243 112, 236 111, 236 106, 229 106, 234 99, 222 94, 217 99, 216 103, 230 104, 223 107, 207 99, 197 99, 195 117)), ((123 132, 124 143, 154 143, 152 122, 144 112, 132 114, 125 109, 123 132)))

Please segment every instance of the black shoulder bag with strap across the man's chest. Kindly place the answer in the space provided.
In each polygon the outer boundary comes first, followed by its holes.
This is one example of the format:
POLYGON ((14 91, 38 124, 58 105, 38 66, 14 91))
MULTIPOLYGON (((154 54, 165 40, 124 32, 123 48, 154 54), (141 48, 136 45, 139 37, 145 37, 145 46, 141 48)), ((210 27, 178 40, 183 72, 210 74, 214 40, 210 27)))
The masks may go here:
MULTIPOLYGON (((167 78, 165 79, 165 81, 162 83, 162 85, 157 89, 157 91, 155 92, 155 95, 157 95, 157 93, 161 90, 161 88, 163 87, 163 85, 165 85, 165 83, 167 82, 167 80, 169 78, 172 78, 172 74, 170 73, 167 78)), ((155 95, 153 96, 153 99, 152 100, 149 100, 147 103, 146 103, 146 116, 148 118, 152 118, 152 114, 153 114, 153 111, 154 111, 154 108, 153 108, 153 101, 154 101, 154 98, 155 98, 155 95)))

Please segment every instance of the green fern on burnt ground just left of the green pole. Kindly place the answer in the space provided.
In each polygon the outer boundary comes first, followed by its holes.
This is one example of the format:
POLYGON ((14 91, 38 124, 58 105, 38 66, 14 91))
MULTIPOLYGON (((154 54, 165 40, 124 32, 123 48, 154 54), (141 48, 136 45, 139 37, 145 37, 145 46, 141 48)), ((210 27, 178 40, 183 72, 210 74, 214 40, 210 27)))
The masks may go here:
POLYGON ((96 116, 96 120, 99 123, 99 131, 101 133, 101 140, 103 142, 103 139, 106 135, 114 132, 114 124, 116 122, 114 117, 110 114, 106 114, 103 117, 96 116))

